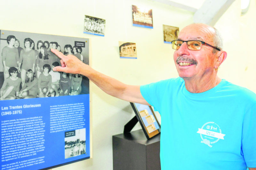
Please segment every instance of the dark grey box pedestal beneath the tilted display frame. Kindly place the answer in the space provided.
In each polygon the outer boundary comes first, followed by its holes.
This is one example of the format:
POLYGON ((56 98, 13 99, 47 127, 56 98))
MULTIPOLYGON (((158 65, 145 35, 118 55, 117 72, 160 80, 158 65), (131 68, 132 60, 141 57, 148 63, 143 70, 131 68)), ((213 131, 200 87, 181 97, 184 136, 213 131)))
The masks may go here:
POLYGON ((112 136, 113 170, 160 170, 160 134, 147 140, 142 129, 112 136))

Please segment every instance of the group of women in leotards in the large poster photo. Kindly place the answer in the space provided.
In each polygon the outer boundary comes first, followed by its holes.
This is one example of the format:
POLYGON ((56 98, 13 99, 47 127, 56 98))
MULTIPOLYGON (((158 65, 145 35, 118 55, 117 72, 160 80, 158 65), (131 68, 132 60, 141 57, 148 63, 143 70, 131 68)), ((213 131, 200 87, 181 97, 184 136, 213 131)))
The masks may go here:
MULTIPOLYGON (((60 59, 50 49, 61 51, 57 42, 24 39, 24 49, 13 35, 7 37, 8 45, 2 50, 4 83, 0 100, 27 99, 78 95, 82 91, 82 76, 52 70, 60 66, 60 59)), ((64 55, 75 55, 83 61, 82 48, 64 46, 64 55)))

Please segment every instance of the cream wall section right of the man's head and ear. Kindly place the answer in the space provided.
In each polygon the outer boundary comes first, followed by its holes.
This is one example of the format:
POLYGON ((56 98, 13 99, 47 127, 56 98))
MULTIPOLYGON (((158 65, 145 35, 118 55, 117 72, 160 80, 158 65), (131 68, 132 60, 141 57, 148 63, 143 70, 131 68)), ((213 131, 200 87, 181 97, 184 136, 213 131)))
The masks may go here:
POLYGON ((228 57, 219 69, 221 78, 256 92, 255 16, 256 1, 251 0, 248 12, 241 16, 236 0, 215 24, 222 33, 228 57))

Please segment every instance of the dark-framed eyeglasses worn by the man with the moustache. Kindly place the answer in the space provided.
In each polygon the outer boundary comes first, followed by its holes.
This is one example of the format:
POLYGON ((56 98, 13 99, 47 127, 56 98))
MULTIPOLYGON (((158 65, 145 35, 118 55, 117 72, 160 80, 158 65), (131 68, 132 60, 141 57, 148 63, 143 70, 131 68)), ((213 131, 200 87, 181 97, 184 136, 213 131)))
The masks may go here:
POLYGON ((188 49, 190 50, 200 50, 202 48, 202 44, 205 44, 220 51, 220 48, 214 47, 210 44, 207 44, 204 41, 198 41, 198 40, 189 40, 189 41, 174 40, 172 41, 172 49, 179 49, 180 46, 183 44, 183 42, 187 42, 188 49))

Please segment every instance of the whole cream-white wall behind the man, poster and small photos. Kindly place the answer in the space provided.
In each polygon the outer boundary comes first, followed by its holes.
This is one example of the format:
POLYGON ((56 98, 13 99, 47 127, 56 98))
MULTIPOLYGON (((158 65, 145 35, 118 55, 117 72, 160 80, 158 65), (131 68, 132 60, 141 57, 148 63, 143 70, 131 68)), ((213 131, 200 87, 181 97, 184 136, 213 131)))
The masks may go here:
MULTIPOLYGON (((215 25, 228 52, 219 75, 256 92, 255 0, 242 17, 239 8, 240 1, 236 0, 215 25)), ((90 38, 92 68, 132 85, 178 76, 172 47, 163 42, 163 24, 181 29, 190 23, 193 23, 192 12, 151 0, 15 0, 2 1, 0 10, 3 30, 90 38), (132 26, 132 5, 153 10, 154 29, 132 26), (83 33, 84 15, 106 19, 105 37, 83 33), (135 42, 138 59, 120 59, 118 41, 135 42)), ((54 170, 113 169, 112 135, 122 133, 134 113, 128 102, 108 96, 93 84, 90 88, 93 158, 54 170)), ((135 129, 139 128, 137 124, 135 129)))

